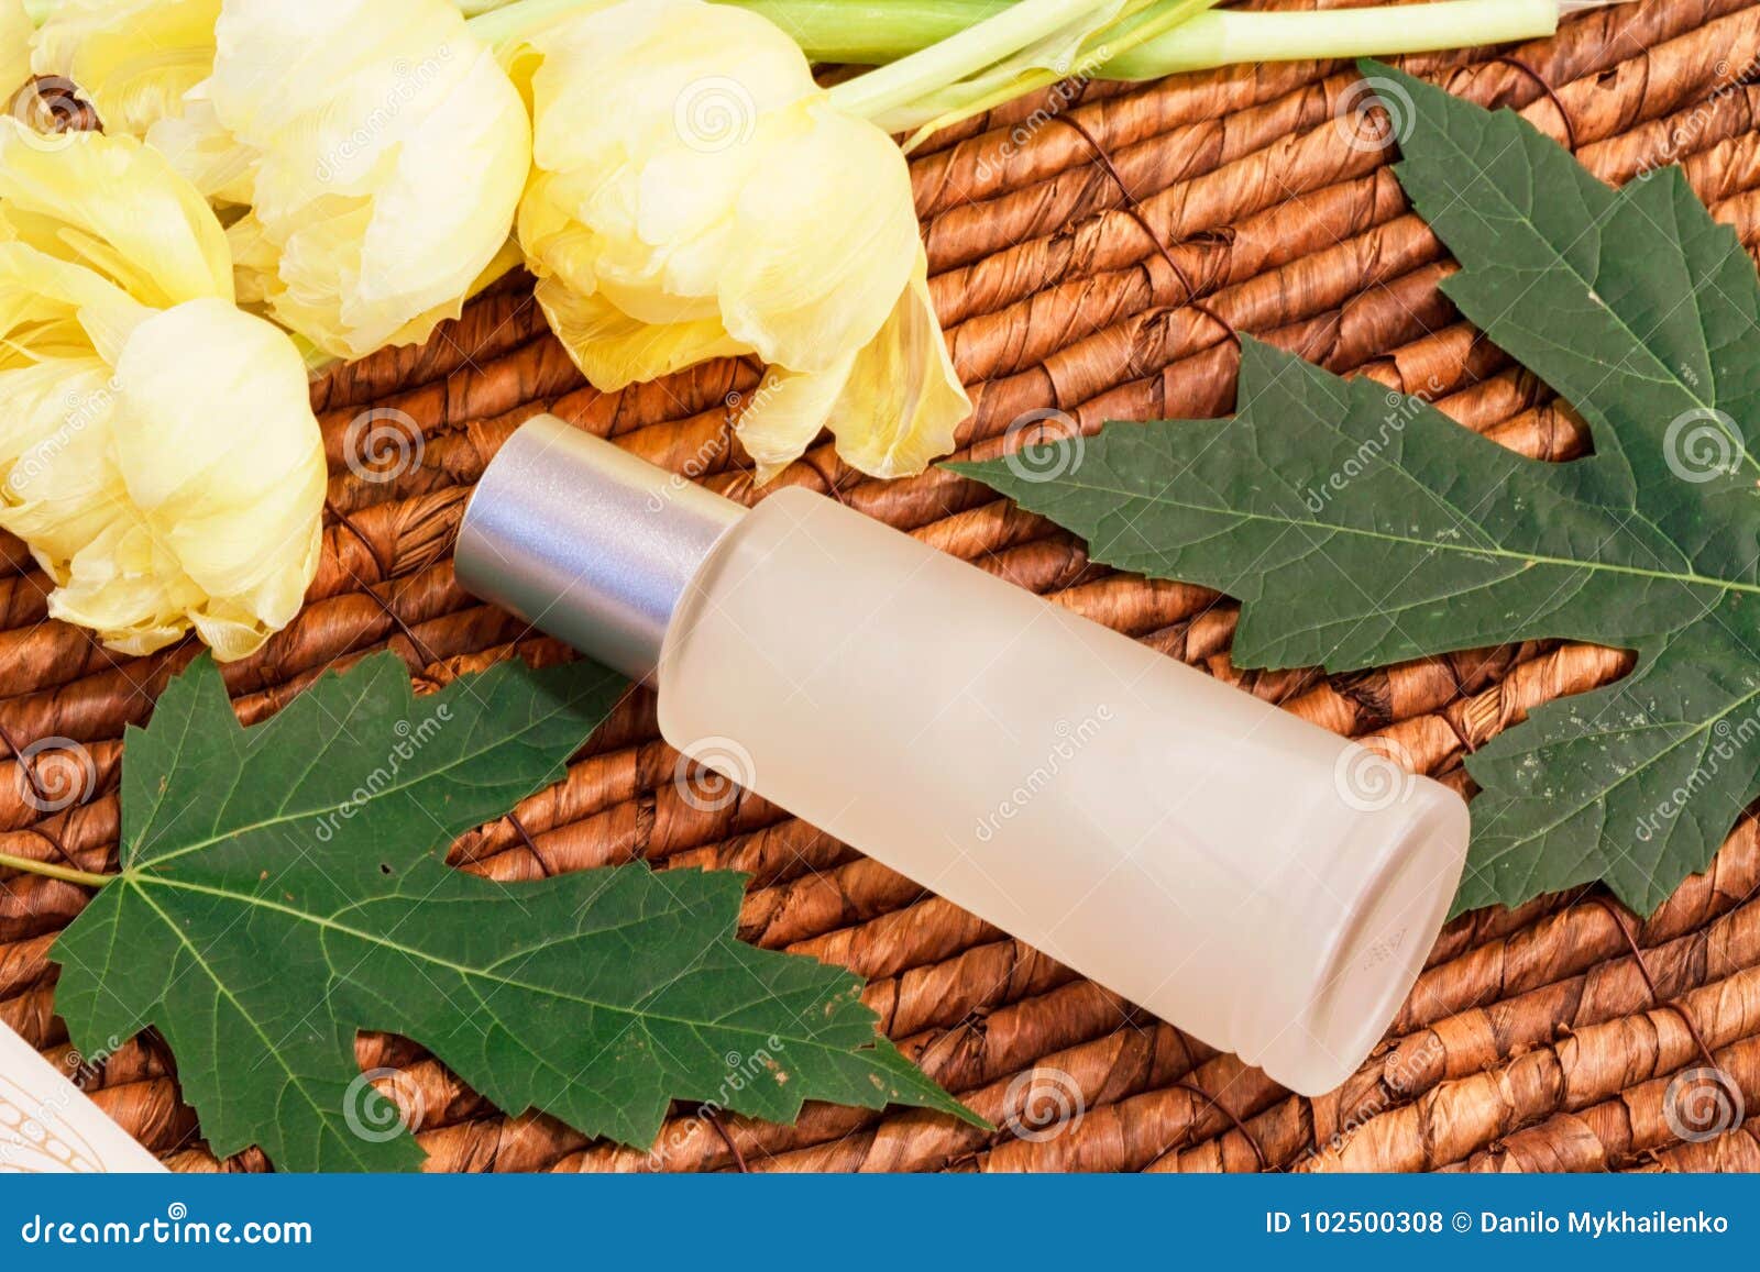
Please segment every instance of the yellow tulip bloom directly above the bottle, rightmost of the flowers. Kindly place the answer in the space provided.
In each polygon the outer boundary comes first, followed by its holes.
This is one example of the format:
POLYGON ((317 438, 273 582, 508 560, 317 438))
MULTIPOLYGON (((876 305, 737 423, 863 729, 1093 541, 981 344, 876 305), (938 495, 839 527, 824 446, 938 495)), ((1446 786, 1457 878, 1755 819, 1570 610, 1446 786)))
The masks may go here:
POLYGON ((905 158, 838 111, 767 19, 625 0, 509 51, 530 76, 519 243, 600 389, 708 357, 769 369, 739 417, 760 480, 825 426, 862 472, 920 472, 970 403, 929 306, 905 158))

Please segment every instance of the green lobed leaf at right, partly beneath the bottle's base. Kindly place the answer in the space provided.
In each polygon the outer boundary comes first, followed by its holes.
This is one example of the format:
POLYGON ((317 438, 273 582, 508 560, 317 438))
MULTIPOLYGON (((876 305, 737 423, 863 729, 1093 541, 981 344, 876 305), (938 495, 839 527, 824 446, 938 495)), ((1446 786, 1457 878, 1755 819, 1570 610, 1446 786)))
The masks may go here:
POLYGON ((1538 463, 1244 341, 1232 420, 1107 424, 956 464, 1096 559, 1243 602, 1243 665, 1383 665, 1559 637, 1637 651, 1468 758, 1461 910, 1593 880, 1651 911, 1760 793, 1760 283, 1679 169, 1612 190, 1519 116, 1364 63, 1443 290, 1589 424, 1538 463), (1038 480, 1037 472, 1051 475, 1038 480))

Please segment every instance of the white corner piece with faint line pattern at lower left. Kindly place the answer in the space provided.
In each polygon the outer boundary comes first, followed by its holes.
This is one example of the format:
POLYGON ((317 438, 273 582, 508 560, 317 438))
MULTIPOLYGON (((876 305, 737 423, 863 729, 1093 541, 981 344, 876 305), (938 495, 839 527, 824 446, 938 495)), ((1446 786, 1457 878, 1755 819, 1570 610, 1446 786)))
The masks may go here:
POLYGON ((84 1091, 0 1024, 0 1173, 162 1170, 84 1091))

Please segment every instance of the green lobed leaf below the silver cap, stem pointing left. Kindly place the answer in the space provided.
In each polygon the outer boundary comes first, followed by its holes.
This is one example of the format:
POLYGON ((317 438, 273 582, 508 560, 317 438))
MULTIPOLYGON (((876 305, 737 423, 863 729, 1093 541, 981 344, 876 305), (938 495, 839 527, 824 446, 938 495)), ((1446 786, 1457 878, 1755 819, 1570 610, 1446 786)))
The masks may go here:
POLYGON ((503 885, 444 864, 558 779, 623 688, 591 663, 503 663, 417 698, 375 654, 243 728, 199 660, 128 730, 121 874, 55 943, 74 1040, 97 1054, 158 1026, 215 1152, 255 1144, 290 1170, 421 1163, 361 1084, 361 1029, 632 1145, 672 1098, 964 1114, 876 1036, 861 980, 734 938, 741 874, 503 885))

